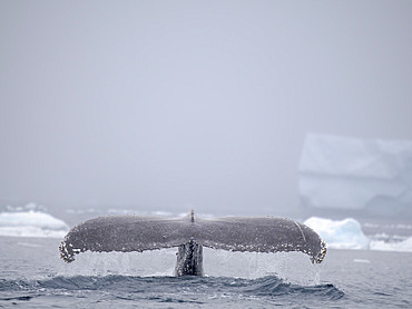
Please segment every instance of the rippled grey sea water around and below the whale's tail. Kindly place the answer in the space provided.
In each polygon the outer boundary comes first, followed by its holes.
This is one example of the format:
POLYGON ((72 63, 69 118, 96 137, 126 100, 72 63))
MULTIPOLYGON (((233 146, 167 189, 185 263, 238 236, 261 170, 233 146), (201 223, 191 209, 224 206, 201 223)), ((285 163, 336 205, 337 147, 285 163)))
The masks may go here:
POLYGON ((241 256, 212 251, 205 256, 205 271, 213 276, 175 278, 163 275, 173 268, 173 252, 153 252, 148 259, 137 259, 140 266, 133 262, 138 256, 122 253, 94 253, 78 265, 65 265, 59 241, 0 237, 1 308, 412 307, 411 253, 328 250, 324 263, 312 267, 302 262, 306 258, 273 256, 277 260, 271 262, 265 253, 242 265, 241 256), (272 266, 278 271, 264 276, 262 269, 272 266), (136 276, 143 269, 146 273, 136 276), (246 278, 235 278, 236 272, 246 278))

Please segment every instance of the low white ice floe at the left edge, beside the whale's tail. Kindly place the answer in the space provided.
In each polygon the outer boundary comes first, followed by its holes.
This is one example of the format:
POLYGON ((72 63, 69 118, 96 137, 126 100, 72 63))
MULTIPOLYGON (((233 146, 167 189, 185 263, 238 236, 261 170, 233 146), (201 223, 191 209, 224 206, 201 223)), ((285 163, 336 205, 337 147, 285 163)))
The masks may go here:
POLYGON ((0 236, 62 238, 68 231, 68 225, 46 212, 0 212, 0 236))

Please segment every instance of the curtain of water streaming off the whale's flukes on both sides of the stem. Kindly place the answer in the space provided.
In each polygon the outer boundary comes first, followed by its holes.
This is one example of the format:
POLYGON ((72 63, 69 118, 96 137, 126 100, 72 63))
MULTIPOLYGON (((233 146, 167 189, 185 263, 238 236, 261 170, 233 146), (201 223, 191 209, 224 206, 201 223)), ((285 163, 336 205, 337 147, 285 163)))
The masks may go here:
MULTIPOLYGON (((144 252, 84 252, 72 263, 60 261, 59 276, 173 277, 177 248, 144 252)), ((291 283, 320 283, 320 265, 302 252, 234 252, 204 247, 205 277, 257 279, 275 276, 291 283)))

